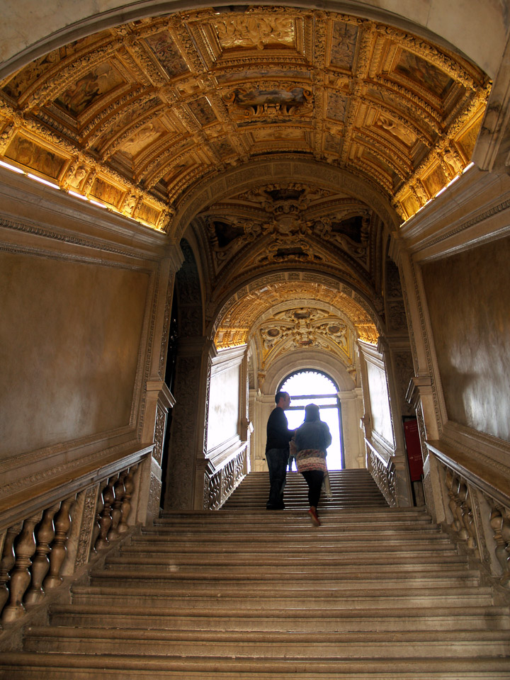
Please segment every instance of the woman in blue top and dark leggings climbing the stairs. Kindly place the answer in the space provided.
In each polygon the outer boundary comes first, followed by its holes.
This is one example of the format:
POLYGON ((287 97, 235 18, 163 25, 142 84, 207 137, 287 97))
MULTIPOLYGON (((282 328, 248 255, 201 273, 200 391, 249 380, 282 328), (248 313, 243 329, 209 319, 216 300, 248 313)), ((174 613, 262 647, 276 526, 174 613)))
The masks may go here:
POLYGON ((320 409, 317 404, 307 404, 305 420, 295 433, 297 471, 308 485, 308 515, 315 526, 321 522, 317 515, 317 506, 321 494, 324 475, 327 475, 326 449, 331 444, 329 427, 320 419, 320 409))

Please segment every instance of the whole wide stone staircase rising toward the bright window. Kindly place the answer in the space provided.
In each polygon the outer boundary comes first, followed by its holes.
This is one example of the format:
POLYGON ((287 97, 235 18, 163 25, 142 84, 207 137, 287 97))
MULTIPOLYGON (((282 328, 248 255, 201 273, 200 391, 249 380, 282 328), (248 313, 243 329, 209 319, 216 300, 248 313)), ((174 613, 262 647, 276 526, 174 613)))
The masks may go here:
POLYGON ((508 680, 509 607, 426 512, 363 470, 331 487, 320 528, 297 472, 284 511, 251 473, 220 511, 166 514, 27 626, 0 678, 508 680))

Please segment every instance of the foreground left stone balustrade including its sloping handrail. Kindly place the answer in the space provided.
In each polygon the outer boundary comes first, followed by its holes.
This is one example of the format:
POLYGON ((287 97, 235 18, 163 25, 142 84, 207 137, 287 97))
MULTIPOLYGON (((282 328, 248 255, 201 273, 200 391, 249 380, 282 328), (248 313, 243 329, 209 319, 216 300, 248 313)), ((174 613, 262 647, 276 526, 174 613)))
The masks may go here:
POLYGON ((11 625, 46 595, 79 574, 136 523, 142 460, 154 445, 106 454, 17 492, 0 503, 1 625, 11 625), (71 477, 72 475, 72 477, 71 477), (29 497, 30 496, 30 497, 29 497))

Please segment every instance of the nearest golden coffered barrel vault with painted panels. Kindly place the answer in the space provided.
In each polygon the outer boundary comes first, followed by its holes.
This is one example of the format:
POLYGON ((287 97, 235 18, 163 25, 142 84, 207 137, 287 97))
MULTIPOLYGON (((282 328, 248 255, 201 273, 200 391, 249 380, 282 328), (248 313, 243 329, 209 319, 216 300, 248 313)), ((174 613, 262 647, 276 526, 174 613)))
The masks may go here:
MULTIPOLYGON (((344 168, 405 219, 469 162, 488 91, 459 55, 373 21, 198 10, 104 30, 6 79, 0 156, 170 235, 198 182, 273 154, 344 168)), ((340 229, 315 207, 304 222, 320 222, 334 245, 340 229)), ((208 216, 217 268, 236 230, 250 239, 310 227, 274 212, 242 217, 208 216)), ((363 268, 363 244, 345 243, 363 268)))

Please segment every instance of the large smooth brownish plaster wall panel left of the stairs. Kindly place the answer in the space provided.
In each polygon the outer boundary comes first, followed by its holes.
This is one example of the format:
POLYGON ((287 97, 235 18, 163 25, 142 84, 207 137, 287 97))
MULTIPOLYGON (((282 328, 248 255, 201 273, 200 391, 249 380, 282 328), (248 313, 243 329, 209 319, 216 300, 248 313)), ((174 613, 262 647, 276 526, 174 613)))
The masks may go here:
POLYGON ((130 424, 148 284, 0 253, 1 458, 130 424))

